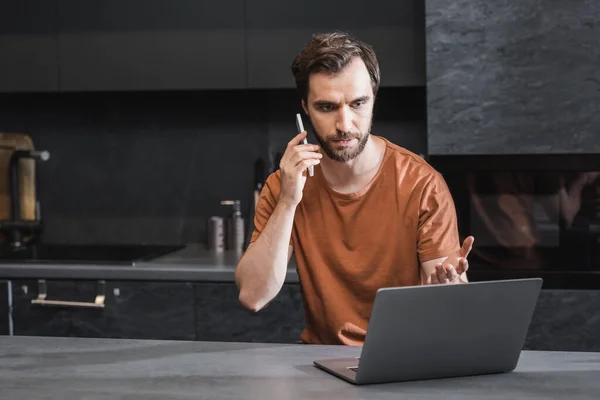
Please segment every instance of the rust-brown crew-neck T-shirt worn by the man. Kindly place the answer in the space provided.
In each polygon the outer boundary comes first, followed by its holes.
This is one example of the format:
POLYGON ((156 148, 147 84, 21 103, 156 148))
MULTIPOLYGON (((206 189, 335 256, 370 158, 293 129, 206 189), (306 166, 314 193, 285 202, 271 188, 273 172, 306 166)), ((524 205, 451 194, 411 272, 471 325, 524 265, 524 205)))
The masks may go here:
MULTIPOLYGON (((300 338, 306 343, 362 345, 379 288, 420 285, 420 262, 460 248, 454 202, 442 176, 384 140, 379 170, 362 190, 336 192, 319 165, 306 181, 290 242, 306 316, 300 338)), ((279 193, 276 171, 261 192, 251 242, 279 193)))

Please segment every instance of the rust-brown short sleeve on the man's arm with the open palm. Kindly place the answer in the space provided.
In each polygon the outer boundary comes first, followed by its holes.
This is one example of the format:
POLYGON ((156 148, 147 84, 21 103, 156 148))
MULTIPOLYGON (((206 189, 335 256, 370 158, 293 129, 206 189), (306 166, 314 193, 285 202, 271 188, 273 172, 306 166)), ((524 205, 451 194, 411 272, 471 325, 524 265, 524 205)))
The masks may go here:
POLYGON ((419 207, 417 251, 421 262, 458 255, 460 239, 454 200, 438 172, 425 184, 419 207))

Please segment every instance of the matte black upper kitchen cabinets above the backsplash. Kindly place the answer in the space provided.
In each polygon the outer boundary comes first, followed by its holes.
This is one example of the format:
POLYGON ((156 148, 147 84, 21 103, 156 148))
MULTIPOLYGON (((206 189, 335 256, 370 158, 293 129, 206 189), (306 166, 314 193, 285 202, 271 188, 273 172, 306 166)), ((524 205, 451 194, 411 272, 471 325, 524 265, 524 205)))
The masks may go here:
POLYGON ((417 0, 2 2, 0 92, 293 88, 317 32, 372 44, 382 86, 423 86, 417 0))

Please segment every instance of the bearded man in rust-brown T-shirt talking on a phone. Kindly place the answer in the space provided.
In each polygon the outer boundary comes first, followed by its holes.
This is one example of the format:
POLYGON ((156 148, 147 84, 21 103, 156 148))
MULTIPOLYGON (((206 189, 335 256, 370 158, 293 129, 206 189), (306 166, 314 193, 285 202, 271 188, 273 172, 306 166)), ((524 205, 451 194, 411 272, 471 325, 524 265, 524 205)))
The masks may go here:
POLYGON ((297 135, 265 182, 236 270, 239 299, 252 311, 265 307, 293 252, 306 315, 301 341, 361 345, 379 288, 467 282, 473 238, 460 248, 441 175, 370 134, 379 87, 370 46, 344 33, 316 35, 292 72, 319 145, 297 135))

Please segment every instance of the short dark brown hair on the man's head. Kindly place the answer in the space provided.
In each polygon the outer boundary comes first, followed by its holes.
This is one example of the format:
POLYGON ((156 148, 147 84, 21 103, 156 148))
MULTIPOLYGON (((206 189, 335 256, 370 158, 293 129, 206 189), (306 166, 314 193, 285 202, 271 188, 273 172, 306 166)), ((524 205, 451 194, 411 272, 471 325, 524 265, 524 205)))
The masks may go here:
POLYGON ((379 63, 373 48, 346 32, 319 33, 313 35, 302 51, 294 57, 292 74, 300 97, 308 98, 308 78, 317 72, 336 74, 355 57, 360 57, 369 71, 373 95, 379 89, 379 63))

